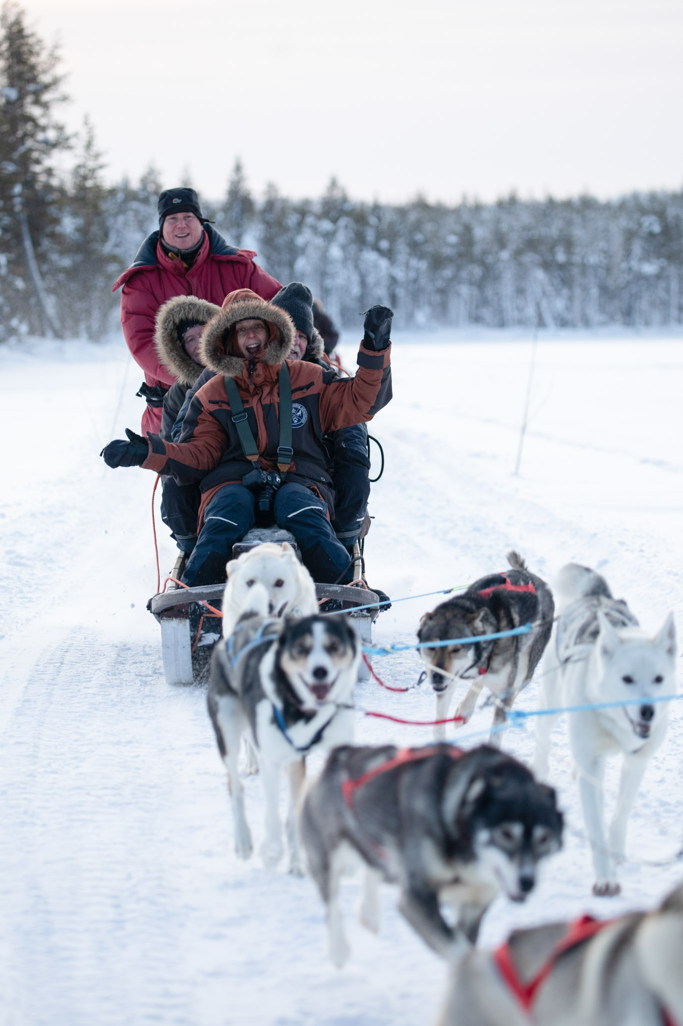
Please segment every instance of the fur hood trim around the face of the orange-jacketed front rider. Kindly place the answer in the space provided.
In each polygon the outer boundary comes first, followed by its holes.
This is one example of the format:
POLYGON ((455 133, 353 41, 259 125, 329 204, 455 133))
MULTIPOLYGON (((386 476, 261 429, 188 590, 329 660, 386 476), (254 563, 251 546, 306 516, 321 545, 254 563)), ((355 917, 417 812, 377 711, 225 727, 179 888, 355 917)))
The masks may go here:
POLYGON ((240 378, 247 362, 242 356, 228 356, 225 352, 227 332, 238 321, 258 318, 266 322, 270 338, 260 359, 271 366, 279 366, 287 359, 294 342, 294 324, 288 313, 259 299, 255 292, 253 298, 243 299, 244 292, 242 289, 240 298, 233 303, 224 303, 222 310, 209 321, 202 334, 200 355, 204 365, 214 373, 228 378, 240 378))

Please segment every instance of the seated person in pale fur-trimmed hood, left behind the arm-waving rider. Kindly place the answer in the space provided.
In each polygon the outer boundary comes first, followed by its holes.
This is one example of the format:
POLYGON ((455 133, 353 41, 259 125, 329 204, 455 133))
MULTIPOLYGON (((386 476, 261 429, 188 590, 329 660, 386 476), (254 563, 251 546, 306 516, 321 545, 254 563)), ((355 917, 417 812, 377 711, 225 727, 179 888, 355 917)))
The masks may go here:
MULTIPOLYGON (((202 331, 220 307, 191 295, 175 295, 159 308, 155 347, 159 362, 175 378, 164 396, 161 438, 171 441, 171 429, 186 392, 204 370, 199 355, 202 331)), ((199 484, 178 484, 170 474, 162 476, 161 516, 181 552, 197 544, 197 520, 202 494, 199 484)))

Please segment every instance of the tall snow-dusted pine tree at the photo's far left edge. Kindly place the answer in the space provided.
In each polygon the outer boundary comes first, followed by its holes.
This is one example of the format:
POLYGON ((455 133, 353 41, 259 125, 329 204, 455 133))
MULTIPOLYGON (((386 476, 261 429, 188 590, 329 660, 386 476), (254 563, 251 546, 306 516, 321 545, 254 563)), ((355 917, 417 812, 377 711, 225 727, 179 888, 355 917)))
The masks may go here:
POLYGON ((55 119, 65 98, 56 50, 45 46, 13 3, 0 13, 0 229, 5 333, 60 334, 45 282, 59 224, 53 157, 70 140, 55 119), (35 301, 38 302, 35 302, 35 301))

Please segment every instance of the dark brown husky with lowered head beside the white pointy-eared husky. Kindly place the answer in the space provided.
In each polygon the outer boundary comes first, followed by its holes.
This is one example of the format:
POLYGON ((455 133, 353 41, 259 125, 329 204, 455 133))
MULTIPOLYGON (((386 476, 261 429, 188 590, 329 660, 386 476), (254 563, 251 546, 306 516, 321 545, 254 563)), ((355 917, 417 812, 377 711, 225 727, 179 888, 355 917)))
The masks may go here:
MULTIPOLYGON (((418 638, 446 641, 450 638, 476 638, 498 634, 530 624, 526 634, 499 638, 497 641, 456 643, 421 648, 427 664, 429 682, 436 693, 436 719, 449 715, 451 698, 459 680, 470 681, 470 689, 456 710, 466 723, 474 712, 484 684, 498 700, 494 714, 490 743, 500 745, 505 711, 511 708, 539 665, 550 638, 555 603, 553 595, 536 574, 531 574, 516 552, 508 553, 511 569, 489 574, 455 598, 441 602, 420 621, 418 638)), ((434 727, 437 741, 445 737, 444 727, 434 727)))

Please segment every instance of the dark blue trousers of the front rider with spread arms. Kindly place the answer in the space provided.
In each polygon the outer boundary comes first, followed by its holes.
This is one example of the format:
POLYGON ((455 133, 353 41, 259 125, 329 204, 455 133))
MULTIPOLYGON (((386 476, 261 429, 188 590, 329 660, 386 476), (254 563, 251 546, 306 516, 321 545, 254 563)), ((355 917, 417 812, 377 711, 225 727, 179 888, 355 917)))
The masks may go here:
MULTIPOLYGON (((204 514, 204 526, 187 560, 183 584, 220 584, 232 546, 254 526, 254 495, 243 484, 226 484, 213 497, 204 514)), ((302 484, 286 483, 275 492, 274 522, 290 530, 304 565, 314 581, 350 581, 349 555, 327 518, 327 503, 302 484)))

